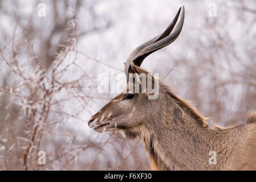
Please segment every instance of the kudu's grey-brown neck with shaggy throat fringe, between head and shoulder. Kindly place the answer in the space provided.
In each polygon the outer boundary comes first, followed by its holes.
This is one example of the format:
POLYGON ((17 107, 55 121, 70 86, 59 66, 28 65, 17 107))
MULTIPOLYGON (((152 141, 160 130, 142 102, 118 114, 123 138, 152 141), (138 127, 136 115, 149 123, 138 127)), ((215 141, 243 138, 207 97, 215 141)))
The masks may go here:
POLYGON ((210 130, 201 117, 185 101, 170 90, 159 95, 162 105, 147 119, 141 139, 150 154, 153 169, 203 169, 196 164, 204 160, 208 166, 208 154, 216 149, 214 140, 220 137, 210 130))

